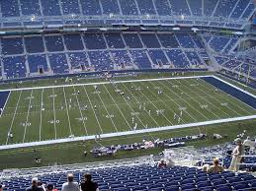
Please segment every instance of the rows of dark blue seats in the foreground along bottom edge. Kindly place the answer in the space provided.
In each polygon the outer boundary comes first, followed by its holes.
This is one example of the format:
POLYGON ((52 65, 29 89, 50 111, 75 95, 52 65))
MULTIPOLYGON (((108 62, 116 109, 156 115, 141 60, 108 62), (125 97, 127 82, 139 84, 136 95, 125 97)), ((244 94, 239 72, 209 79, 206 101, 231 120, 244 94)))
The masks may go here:
MULTIPOLYGON (((245 190, 251 189, 255 185, 255 177, 249 173, 235 175, 233 172, 224 171, 217 174, 207 174, 196 167, 173 166, 171 168, 157 168, 146 164, 120 166, 111 168, 100 168, 90 170, 93 180, 99 185, 99 189, 107 190, 245 190)), ((83 172, 75 171, 75 181, 83 180, 83 172)), ((66 181, 66 174, 54 172, 40 175, 39 179, 43 183, 50 182, 58 190, 62 183, 66 181)), ((31 177, 14 177, 3 181, 7 190, 24 190, 30 186, 31 177)))

